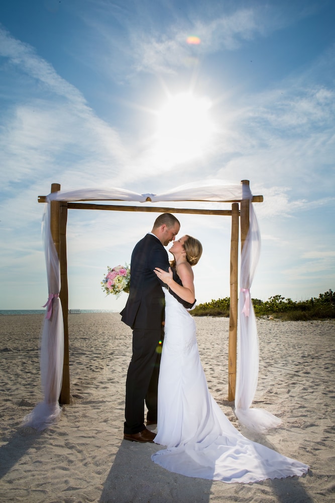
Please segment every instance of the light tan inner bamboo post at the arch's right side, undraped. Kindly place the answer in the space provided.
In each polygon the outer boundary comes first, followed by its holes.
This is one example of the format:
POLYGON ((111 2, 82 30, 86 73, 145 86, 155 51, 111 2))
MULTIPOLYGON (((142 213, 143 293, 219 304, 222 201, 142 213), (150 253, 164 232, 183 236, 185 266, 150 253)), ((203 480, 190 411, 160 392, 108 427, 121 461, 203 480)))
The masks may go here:
POLYGON ((228 344, 228 400, 235 400, 238 313, 239 203, 232 204, 231 273, 228 344))

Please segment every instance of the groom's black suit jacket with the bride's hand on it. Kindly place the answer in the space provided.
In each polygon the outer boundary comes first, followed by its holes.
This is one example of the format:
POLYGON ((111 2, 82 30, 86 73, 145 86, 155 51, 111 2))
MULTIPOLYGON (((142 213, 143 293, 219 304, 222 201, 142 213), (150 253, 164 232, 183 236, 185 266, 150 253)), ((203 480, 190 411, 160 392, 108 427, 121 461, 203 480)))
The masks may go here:
MULTIPOLYGON (((147 234, 135 246, 131 259, 130 293, 122 321, 132 328, 160 329, 164 320, 162 283, 154 273, 155 267, 168 271, 168 254, 160 240, 147 234)), ((186 308, 194 305, 171 294, 186 308)))

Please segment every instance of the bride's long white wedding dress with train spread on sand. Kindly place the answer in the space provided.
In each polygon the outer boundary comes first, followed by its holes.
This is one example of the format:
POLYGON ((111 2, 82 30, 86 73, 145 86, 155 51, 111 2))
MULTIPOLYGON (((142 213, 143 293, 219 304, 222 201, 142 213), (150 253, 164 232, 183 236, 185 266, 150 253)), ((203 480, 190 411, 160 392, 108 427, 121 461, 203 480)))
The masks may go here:
POLYGON ((308 466, 245 438, 208 391, 196 342, 195 322, 165 293, 165 337, 158 384, 158 434, 167 446, 152 460, 188 477, 257 482, 302 475, 308 466))

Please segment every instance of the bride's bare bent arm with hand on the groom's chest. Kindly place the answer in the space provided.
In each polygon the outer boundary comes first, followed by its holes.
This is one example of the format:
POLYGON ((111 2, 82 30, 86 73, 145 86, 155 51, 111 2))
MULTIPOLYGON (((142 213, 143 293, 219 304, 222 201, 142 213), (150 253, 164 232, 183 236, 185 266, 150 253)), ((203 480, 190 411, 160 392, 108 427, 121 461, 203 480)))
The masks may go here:
POLYGON ((182 282, 182 285, 179 285, 173 279, 171 268, 169 267, 169 271, 163 271, 159 267, 156 267, 154 272, 159 277, 163 283, 166 283, 168 287, 178 295, 181 299, 189 302, 190 304, 195 301, 195 293, 194 293, 194 283, 193 283, 193 271, 191 266, 188 263, 179 264, 178 266, 178 276, 182 282))

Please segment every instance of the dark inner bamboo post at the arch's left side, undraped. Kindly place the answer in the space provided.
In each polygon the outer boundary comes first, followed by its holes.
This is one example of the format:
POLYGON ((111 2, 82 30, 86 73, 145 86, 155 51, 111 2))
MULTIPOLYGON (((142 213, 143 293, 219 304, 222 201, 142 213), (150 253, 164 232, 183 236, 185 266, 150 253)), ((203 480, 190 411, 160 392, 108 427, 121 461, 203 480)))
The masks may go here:
POLYGON ((70 367, 69 367, 69 325, 68 325, 68 283, 67 283, 67 257, 66 257, 66 223, 67 202, 60 203, 59 237, 60 237, 60 301, 63 311, 64 323, 64 362, 62 389, 59 396, 60 403, 70 403, 70 367))

